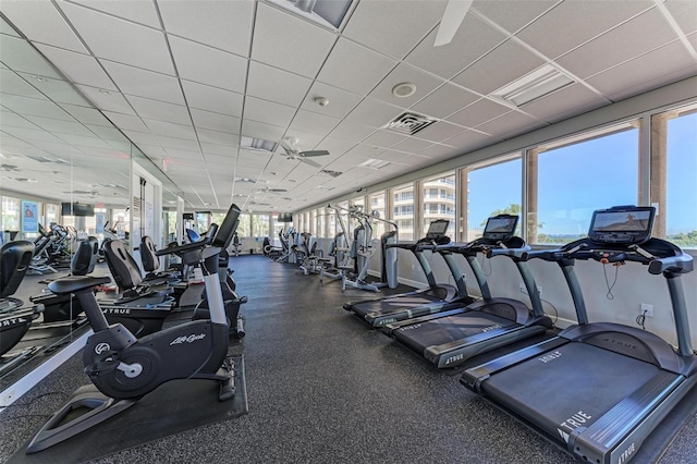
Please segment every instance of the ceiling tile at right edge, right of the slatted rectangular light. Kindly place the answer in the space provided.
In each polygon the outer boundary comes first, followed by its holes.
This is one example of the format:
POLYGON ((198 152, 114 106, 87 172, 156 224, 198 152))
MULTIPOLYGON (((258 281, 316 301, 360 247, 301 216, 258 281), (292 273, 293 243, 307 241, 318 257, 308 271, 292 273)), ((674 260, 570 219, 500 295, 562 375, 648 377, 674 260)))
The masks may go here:
POLYGON ((608 98, 619 100, 663 85, 664 81, 661 77, 680 74, 681 71, 683 77, 687 77, 695 73, 696 69, 697 63, 690 60, 683 44, 674 41, 597 74, 587 82, 608 98))

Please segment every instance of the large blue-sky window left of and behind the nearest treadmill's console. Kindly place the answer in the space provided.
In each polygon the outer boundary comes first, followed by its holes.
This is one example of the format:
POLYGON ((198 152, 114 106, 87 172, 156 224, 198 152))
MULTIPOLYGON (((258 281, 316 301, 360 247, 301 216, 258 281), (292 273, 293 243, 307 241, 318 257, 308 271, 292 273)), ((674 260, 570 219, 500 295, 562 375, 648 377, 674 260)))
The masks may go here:
POLYGON ((586 236, 596 209, 636 204, 638 152, 629 123, 529 150, 528 242, 571 242, 586 236))

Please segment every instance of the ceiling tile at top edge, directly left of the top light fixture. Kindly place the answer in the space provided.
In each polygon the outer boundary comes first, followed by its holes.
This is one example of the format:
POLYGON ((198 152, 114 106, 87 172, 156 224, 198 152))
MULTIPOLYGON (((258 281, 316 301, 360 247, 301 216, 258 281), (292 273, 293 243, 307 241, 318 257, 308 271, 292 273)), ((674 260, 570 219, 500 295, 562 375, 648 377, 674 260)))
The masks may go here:
POLYGON ((158 2, 168 33, 243 57, 249 52, 254 5, 253 0, 158 2))

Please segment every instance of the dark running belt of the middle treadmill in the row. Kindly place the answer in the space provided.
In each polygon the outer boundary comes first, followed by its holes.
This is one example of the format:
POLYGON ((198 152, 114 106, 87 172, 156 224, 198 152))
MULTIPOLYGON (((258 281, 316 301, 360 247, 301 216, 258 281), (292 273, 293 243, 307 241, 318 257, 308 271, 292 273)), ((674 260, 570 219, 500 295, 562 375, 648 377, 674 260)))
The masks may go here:
POLYGON ((517 326, 516 322, 482 312, 467 312, 414 323, 393 332, 396 340, 423 353, 429 346, 461 341, 492 329, 517 326))

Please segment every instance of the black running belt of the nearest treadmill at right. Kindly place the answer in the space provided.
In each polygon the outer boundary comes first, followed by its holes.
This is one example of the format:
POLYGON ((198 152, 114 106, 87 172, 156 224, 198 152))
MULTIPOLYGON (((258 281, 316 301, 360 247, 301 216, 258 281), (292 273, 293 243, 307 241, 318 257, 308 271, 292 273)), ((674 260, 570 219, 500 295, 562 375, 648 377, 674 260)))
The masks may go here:
POLYGON ((487 395, 558 439, 588 427, 651 379, 652 364, 571 342, 482 383, 487 395))

